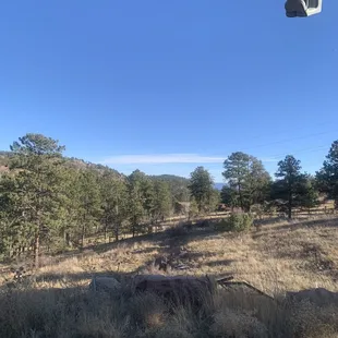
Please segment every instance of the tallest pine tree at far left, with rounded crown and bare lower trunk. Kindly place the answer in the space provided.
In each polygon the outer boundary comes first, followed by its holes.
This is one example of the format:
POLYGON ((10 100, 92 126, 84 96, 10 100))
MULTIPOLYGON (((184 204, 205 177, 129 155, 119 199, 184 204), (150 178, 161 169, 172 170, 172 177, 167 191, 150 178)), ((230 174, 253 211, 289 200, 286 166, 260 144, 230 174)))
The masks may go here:
POLYGON ((36 267, 40 240, 58 226, 63 149, 58 141, 41 134, 26 134, 11 146, 13 174, 4 195, 11 202, 16 241, 24 237, 23 245, 33 245, 36 267))

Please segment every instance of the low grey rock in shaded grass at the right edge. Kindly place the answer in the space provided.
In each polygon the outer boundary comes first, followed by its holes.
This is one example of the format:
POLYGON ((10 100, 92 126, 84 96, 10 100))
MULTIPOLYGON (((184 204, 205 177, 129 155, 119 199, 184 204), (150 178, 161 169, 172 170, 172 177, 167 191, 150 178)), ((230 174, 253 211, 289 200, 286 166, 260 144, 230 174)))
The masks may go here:
POLYGON ((287 299, 301 302, 309 300, 317 306, 336 304, 338 305, 338 293, 323 288, 302 290, 299 292, 287 292, 287 299))

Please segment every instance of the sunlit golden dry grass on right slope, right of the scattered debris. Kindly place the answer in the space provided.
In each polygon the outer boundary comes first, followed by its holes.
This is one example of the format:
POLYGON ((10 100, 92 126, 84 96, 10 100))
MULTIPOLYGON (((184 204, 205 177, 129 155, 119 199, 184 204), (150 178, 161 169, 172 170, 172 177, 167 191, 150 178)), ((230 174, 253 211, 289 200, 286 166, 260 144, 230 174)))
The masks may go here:
POLYGON ((278 221, 241 236, 196 238, 188 244, 200 254, 191 273, 231 274, 269 293, 316 287, 338 291, 338 222, 309 224, 278 221))

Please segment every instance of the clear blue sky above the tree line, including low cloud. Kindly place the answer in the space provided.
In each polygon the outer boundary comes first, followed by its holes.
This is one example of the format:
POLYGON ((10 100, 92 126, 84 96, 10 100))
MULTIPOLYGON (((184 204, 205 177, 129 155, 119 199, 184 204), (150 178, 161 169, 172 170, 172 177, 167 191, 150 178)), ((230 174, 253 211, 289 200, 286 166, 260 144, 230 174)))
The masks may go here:
POLYGON ((0 149, 26 132, 129 173, 221 181, 243 150, 314 172, 338 138, 338 1, 2 1, 0 149))

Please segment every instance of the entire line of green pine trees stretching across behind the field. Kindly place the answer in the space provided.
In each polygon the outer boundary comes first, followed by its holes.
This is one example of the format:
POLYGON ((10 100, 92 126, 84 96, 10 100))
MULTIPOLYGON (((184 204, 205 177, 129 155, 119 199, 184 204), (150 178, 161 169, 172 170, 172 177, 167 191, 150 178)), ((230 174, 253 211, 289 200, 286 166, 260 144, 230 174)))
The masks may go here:
POLYGON ((273 180, 257 158, 233 153, 224 162, 220 193, 203 167, 190 180, 140 170, 123 176, 104 166, 74 166, 63 152, 58 141, 41 134, 28 133, 11 145, 8 170, 0 173, 2 258, 33 252, 38 266, 40 248, 81 248, 97 233, 116 241, 124 233, 134 237, 152 231, 188 202, 190 217, 214 212, 220 202, 244 212, 277 205, 291 217, 297 206, 315 206, 321 192, 338 205, 338 142, 315 177, 287 156, 273 180))

